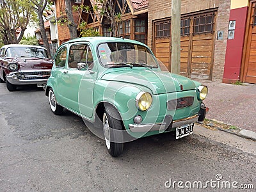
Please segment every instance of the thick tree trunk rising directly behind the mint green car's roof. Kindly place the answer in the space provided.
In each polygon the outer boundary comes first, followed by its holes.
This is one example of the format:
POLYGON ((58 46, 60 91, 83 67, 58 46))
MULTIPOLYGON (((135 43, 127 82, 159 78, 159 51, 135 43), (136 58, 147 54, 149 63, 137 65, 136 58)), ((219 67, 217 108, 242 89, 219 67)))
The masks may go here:
POLYGON ((70 33, 70 39, 74 39, 74 38, 77 38, 77 24, 74 22, 71 1, 65 0, 65 4, 66 4, 65 11, 66 11, 67 17, 68 17, 67 26, 68 26, 69 33, 70 33))

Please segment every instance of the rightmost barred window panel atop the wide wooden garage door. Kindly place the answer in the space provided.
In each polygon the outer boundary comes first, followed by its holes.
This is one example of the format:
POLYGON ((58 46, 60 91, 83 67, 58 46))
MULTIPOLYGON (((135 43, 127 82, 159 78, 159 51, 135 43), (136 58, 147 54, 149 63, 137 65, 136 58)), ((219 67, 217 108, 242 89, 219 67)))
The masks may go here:
POLYGON ((193 34, 213 33, 214 13, 194 17, 193 34))

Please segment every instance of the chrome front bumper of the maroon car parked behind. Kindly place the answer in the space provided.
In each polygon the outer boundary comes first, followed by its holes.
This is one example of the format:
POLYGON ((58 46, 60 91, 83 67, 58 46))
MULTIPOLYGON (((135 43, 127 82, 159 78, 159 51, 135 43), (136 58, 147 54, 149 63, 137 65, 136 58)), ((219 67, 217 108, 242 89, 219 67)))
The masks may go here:
POLYGON ((45 84, 50 77, 51 70, 13 72, 6 76, 6 81, 11 84, 45 84))

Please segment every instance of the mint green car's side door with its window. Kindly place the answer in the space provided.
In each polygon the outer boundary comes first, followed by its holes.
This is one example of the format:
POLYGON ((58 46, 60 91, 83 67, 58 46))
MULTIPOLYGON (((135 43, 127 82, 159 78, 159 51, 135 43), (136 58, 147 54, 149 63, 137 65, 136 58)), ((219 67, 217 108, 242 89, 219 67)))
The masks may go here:
POLYGON ((93 55, 88 43, 72 44, 69 47, 68 58, 60 93, 65 100, 65 106, 79 115, 92 117, 93 88, 97 78, 97 68, 93 65, 93 55), (84 63, 86 68, 79 70, 77 63, 84 63))

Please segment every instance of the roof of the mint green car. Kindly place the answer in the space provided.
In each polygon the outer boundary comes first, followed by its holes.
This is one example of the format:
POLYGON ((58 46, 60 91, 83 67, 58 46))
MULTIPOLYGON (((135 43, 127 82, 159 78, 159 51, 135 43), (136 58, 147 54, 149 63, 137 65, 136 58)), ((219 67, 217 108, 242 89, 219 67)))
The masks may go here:
MULTIPOLYGON (((130 40, 127 38, 120 38, 120 37, 106 37, 106 36, 90 36, 90 37, 80 37, 80 38, 75 38, 73 40, 69 40, 65 42, 64 44, 70 44, 74 42, 91 42, 92 44, 100 44, 103 42, 130 42, 133 44, 140 44, 140 45, 145 45, 142 44, 141 42, 135 41, 135 40, 130 40)), ((147 46, 147 45, 146 45, 147 46)))

